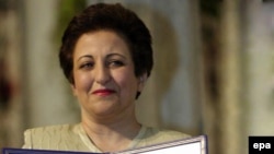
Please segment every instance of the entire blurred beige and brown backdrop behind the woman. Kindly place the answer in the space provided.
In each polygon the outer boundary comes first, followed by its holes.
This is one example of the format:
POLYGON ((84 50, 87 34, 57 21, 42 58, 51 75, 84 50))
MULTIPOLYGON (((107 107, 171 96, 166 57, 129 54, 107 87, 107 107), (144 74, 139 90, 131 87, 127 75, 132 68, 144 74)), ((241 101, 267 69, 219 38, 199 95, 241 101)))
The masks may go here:
POLYGON ((91 3, 121 2, 153 37, 139 121, 207 134, 210 154, 274 135, 273 0, 0 0, 0 149, 27 128, 80 121, 58 63, 64 28, 91 3))

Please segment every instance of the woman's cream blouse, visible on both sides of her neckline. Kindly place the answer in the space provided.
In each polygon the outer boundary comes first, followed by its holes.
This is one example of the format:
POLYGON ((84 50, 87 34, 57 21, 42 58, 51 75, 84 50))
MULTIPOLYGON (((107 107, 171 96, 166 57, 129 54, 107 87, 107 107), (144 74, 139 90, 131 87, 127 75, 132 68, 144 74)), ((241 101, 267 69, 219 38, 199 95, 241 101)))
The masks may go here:
MULTIPOLYGON (((178 131, 142 126, 127 150, 187 137, 187 134, 178 131)), ((102 153, 89 139, 80 123, 28 129, 24 132, 24 140, 23 149, 102 153)))

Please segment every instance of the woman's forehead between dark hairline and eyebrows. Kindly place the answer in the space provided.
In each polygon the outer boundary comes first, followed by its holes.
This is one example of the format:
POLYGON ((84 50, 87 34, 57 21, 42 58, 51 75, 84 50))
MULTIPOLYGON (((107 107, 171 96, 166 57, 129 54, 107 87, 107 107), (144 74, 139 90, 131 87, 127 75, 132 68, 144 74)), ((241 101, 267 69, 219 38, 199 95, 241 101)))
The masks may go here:
POLYGON ((119 52, 130 56, 125 38, 112 31, 95 31, 82 34, 76 43, 73 57, 85 54, 119 52))

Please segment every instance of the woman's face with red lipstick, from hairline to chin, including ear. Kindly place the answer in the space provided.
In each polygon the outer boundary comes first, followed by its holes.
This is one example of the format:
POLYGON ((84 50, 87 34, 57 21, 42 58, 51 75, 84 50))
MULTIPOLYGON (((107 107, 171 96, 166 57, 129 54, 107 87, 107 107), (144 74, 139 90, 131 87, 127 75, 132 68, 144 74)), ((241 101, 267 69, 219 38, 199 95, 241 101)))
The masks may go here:
POLYGON ((135 76, 126 42, 111 31, 83 34, 73 52, 71 85, 84 116, 134 112, 137 91, 144 83, 135 76))

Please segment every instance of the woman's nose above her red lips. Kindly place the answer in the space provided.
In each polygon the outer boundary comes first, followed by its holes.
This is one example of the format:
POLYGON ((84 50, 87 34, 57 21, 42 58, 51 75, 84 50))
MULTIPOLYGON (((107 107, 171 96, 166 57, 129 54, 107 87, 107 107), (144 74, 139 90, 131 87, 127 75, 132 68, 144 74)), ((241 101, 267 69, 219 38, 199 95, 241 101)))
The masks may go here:
POLYGON ((106 84, 111 80, 110 70, 104 63, 101 62, 95 64, 94 80, 96 83, 102 85, 106 84))

